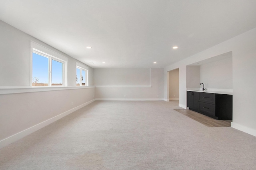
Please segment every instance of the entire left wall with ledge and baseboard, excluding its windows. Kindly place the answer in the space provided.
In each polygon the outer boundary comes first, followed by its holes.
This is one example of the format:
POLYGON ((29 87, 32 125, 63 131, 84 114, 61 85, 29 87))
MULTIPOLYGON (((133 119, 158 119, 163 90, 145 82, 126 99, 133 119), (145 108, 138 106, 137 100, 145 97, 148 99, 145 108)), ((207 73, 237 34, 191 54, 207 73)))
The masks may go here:
POLYGON ((95 88, 30 87, 30 41, 68 57, 68 86, 76 85, 79 61, 0 21, 0 148, 94 101, 95 88), (17 93, 22 89, 26 92, 17 93))

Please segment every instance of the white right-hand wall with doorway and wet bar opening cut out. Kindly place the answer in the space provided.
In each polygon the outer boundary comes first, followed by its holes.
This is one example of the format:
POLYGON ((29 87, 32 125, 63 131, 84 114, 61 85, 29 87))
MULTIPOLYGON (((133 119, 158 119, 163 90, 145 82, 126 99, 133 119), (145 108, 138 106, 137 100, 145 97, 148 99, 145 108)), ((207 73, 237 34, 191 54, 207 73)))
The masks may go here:
MULTIPOLYGON (((233 122, 232 127, 256 136, 254 109, 256 87, 256 28, 224 41, 214 47, 165 68, 165 97, 167 72, 180 69, 180 106, 186 106, 186 66, 232 51, 233 122), (182 81, 182 82, 181 82, 182 81)), ((186 108, 186 107, 184 107, 186 108)))

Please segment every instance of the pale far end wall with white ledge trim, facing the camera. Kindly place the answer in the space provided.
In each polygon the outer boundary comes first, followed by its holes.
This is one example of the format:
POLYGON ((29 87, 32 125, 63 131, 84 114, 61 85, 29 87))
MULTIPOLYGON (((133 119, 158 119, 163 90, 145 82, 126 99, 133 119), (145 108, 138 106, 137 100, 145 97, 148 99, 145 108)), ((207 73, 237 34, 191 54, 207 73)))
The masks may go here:
POLYGON ((151 69, 136 69, 131 72, 130 69, 94 69, 94 82, 97 86, 104 86, 95 89, 97 100, 163 100, 164 98, 164 69, 151 68, 151 69), (145 71, 146 70, 146 71, 145 71), (118 76, 111 74, 108 78, 102 78, 103 72, 116 72, 119 71, 118 76), (131 82, 126 81, 126 75, 129 72, 131 82), (143 74, 144 75, 143 75, 143 74), (150 75, 150 77, 148 77, 150 75), (142 78, 145 77, 145 78, 142 78), (99 79, 101 79, 99 81, 99 79), (140 79, 141 78, 141 79, 140 79), (113 80, 112 80, 113 79, 113 80), (134 81, 136 80, 136 81, 134 81), (151 80, 151 84, 150 84, 151 80), (120 85, 119 87, 105 86, 106 84, 115 85, 108 81, 115 82, 120 85), (126 84, 127 83, 127 84, 126 84), (142 87, 139 87, 143 85, 142 87), (127 87, 122 87, 127 86, 127 87), (148 86, 148 87, 144 87, 148 86))

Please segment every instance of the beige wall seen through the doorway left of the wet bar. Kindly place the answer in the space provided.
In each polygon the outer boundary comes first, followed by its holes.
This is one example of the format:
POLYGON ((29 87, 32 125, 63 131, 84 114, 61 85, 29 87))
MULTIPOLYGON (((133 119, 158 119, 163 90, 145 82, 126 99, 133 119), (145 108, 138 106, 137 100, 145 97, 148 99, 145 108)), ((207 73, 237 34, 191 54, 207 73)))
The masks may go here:
POLYGON ((169 100, 179 100, 179 69, 169 71, 169 100))

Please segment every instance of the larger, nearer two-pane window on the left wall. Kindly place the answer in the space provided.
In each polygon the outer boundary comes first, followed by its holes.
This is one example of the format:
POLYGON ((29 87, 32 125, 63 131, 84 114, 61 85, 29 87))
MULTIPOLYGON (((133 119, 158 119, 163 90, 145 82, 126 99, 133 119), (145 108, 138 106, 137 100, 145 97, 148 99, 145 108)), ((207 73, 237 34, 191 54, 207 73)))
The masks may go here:
POLYGON ((67 58, 31 42, 32 86, 66 86, 67 58))

